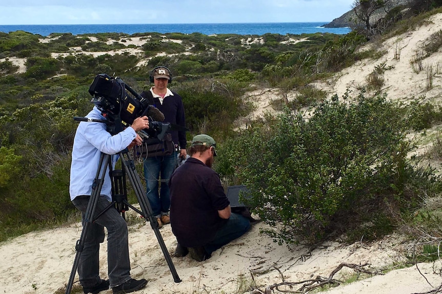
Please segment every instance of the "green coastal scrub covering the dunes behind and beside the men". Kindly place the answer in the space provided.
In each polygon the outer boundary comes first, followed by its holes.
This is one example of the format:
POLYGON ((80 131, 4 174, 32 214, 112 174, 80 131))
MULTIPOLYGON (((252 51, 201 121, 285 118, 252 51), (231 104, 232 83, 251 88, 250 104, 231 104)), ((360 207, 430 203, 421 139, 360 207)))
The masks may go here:
MULTIPOLYGON (((439 10, 425 13, 434 11, 439 10)), ((417 15, 395 22, 379 38, 420 21, 425 20, 417 15)), ((226 185, 247 185, 251 198, 244 200, 271 224, 263 233, 275 241, 317 244, 338 235, 349 242, 361 236, 373 240, 405 224, 411 235, 419 227, 440 238, 435 225, 440 207, 426 204, 440 195, 439 176, 422 157, 409 156, 417 146, 406 137, 440 124, 440 107, 387 99, 380 91, 389 70, 383 63, 367 78, 367 90, 379 91, 374 96, 361 88, 356 97, 327 99, 312 86, 383 54, 358 50, 375 41, 373 34, 49 37, 43 42, 23 31, 0 33, 0 241, 77 219, 68 191, 77 125, 72 118, 92 107, 91 81, 107 73, 140 93, 150 86, 149 73, 157 65, 172 70, 170 87, 184 99, 188 139, 204 132, 219 142, 214 168, 226 185), (126 46, 134 38, 143 45, 126 46), (127 48, 138 53, 118 51, 127 48), (107 53, 91 54, 101 51, 107 53), (20 58, 26 59, 23 73, 12 62, 20 58), (235 122, 254 107, 245 94, 262 86, 280 89, 275 108, 282 114, 238 128, 235 122), (297 95, 289 101, 291 91, 297 95)), ((440 32, 426 42, 425 54, 439 48, 440 32)), ((440 144, 432 154, 440 154, 440 144)), ((434 244, 426 245, 421 250, 431 259, 434 244)))

